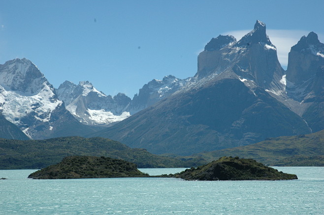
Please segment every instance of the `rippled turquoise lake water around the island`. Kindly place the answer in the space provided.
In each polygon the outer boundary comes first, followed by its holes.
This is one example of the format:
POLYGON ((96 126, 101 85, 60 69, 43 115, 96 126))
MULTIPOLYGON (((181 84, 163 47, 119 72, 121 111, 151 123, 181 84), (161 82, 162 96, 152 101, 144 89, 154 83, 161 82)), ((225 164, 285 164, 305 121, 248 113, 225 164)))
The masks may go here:
MULTIPOLYGON (((275 167, 292 181, 173 178, 27 179, 0 170, 0 214, 323 215, 324 167, 275 167)), ((183 168, 140 169, 150 175, 183 168)))

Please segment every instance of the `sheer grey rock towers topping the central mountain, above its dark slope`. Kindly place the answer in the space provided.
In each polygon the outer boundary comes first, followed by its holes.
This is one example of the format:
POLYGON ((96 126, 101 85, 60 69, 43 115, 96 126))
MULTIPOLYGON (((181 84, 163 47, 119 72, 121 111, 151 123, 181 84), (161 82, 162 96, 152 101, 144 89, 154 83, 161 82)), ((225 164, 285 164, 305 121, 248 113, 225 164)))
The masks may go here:
MULTIPOLYGON (((224 37, 227 40, 232 38, 224 37)), ((264 23, 257 21, 255 28, 241 40, 230 41, 232 42, 221 49, 205 49, 199 54, 196 78, 206 78, 231 69, 241 79, 255 81, 264 89, 278 93, 285 91, 284 84, 280 82, 284 70, 278 61, 276 47, 266 35, 264 23)))

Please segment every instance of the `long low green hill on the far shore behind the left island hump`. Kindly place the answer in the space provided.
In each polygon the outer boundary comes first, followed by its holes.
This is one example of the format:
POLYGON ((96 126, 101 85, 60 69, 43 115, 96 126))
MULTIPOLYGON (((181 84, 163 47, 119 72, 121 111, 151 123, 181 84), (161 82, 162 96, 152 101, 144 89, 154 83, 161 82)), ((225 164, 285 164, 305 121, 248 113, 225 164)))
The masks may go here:
POLYGON ((0 139, 0 169, 41 169, 67 156, 104 156, 135 163, 138 168, 189 167, 205 164, 198 159, 178 160, 132 149, 118 141, 78 136, 45 140, 0 139))

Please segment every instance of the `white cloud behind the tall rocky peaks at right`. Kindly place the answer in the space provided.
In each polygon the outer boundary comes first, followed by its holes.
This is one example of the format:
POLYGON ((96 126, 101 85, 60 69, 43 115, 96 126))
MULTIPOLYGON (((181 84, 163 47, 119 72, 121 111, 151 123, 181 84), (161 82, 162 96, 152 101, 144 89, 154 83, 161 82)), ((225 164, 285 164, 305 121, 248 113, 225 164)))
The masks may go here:
MULTIPOLYGON (((232 35, 236 40, 240 40, 245 34, 251 30, 234 30, 222 33, 222 35, 232 35)), ((288 65, 288 53, 302 36, 307 36, 310 31, 306 30, 277 30, 267 29, 267 35, 273 45, 277 47, 277 55, 280 64, 284 67, 288 65)), ((316 33, 316 32, 315 32, 316 33)), ((324 42, 324 35, 318 34, 319 40, 324 42)))

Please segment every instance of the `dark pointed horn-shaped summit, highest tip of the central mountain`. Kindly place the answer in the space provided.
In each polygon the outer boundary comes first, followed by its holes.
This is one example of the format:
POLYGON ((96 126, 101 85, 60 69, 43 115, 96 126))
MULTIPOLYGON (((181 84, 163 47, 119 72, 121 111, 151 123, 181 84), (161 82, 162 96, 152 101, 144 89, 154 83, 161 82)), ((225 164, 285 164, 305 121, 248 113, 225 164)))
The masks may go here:
POLYGON ((275 47, 271 42, 269 37, 266 35, 265 32, 265 24, 262 23, 261 21, 257 20, 256 24, 254 25, 254 29, 249 32, 248 34, 246 34, 244 37, 242 37, 242 39, 240 39, 236 46, 237 47, 249 47, 252 44, 255 43, 264 43, 267 44, 269 46, 273 46, 275 47))

